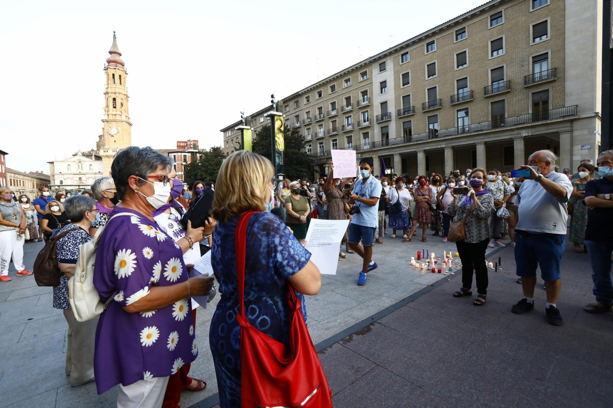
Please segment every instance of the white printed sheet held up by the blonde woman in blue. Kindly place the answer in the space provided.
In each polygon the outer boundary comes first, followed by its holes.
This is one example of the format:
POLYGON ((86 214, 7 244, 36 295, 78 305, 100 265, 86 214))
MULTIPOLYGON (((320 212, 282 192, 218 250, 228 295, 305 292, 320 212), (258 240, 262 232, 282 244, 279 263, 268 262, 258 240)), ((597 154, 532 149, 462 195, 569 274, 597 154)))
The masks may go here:
MULTIPOLYGON (((355 171, 355 164, 353 168, 352 171, 355 171)), ((349 220, 311 219, 305 238, 306 248, 311 252, 311 260, 320 273, 337 274, 338 251, 348 226, 349 220)))

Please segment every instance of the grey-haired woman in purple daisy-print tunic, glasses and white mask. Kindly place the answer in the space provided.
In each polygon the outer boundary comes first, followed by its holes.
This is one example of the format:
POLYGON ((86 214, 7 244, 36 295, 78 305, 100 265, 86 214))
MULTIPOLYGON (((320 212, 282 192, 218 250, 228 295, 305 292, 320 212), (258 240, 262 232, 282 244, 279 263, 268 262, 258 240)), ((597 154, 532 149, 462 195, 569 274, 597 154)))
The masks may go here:
POLYGON ((188 224, 175 242, 153 219, 170 201, 171 165, 151 148, 130 146, 111 166, 121 202, 97 243, 94 286, 102 303, 112 301, 98 322, 94 372, 98 393, 119 385, 118 407, 162 405, 170 375, 198 354, 189 298, 213 286, 212 277, 189 278, 183 262, 211 225, 188 224))

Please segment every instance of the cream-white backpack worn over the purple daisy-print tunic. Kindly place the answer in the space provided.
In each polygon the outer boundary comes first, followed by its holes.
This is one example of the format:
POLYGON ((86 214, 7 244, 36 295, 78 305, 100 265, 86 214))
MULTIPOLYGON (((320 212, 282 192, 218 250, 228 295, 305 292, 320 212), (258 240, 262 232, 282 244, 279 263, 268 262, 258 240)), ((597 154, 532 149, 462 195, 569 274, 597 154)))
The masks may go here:
POLYGON ((106 303, 102 303, 100 295, 94 286, 94 263, 96 262, 98 241, 113 218, 132 215, 134 214, 115 214, 110 217, 104 227, 96 231, 93 240, 79 246, 75 274, 68 281, 68 301, 77 322, 85 322, 102 314, 107 306, 109 306, 110 301, 113 300, 115 293, 109 297, 106 303))

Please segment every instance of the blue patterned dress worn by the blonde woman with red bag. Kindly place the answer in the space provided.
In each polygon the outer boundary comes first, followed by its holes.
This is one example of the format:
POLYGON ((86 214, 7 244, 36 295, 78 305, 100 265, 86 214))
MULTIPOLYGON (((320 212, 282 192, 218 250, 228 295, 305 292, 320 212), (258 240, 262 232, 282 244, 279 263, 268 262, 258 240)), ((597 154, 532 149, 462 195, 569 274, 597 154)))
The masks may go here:
MULTIPOLYGON (((211 264, 221 298, 211 320, 209 341, 222 407, 240 407, 240 325, 234 234, 240 216, 219 221, 213 233, 211 264)), ((311 254, 271 213, 256 213, 247 227, 245 313, 249 322, 271 338, 289 341, 286 282, 307 265, 311 254)), ((304 295, 298 293, 307 319, 304 295)))

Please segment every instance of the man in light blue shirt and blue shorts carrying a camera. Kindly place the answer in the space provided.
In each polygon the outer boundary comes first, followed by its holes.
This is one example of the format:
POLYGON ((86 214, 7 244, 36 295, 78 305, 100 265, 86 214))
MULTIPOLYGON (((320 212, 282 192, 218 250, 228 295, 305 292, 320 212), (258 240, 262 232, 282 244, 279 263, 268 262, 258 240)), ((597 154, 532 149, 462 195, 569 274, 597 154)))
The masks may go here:
POLYGON ((349 215, 353 216, 349 224, 349 246, 364 260, 357 284, 366 284, 366 274, 377 268, 373 255, 373 241, 377 227, 378 202, 381 197, 381 183, 372 175, 373 158, 364 157, 360 160, 360 176, 353 185, 349 196, 349 215), (362 246, 359 245, 362 241, 362 246))

